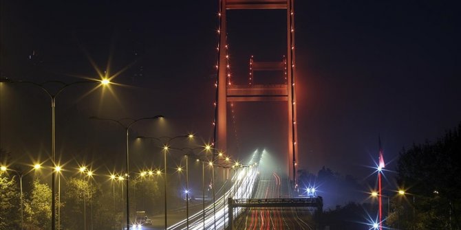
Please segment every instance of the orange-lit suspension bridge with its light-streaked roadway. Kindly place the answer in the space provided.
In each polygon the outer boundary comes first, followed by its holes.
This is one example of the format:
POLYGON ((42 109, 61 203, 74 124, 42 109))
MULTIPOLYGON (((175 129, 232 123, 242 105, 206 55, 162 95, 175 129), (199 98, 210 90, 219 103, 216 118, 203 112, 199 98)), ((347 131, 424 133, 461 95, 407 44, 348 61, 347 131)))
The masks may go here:
MULTIPOLYGON (((217 81, 215 100, 215 132, 213 145, 227 150, 228 103, 287 102, 288 144, 287 170, 274 170, 265 163, 265 150, 253 152, 245 167, 233 168, 234 174, 224 181, 213 203, 169 229, 315 229, 312 221, 321 214, 323 200, 319 196, 295 198, 297 189, 297 110, 294 58, 294 0, 220 0, 219 43, 217 45, 217 81), (285 10, 286 53, 280 60, 259 62, 250 56, 248 84, 233 84, 230 73, 227 12, 229 10, 285 10), (255 72, 282 73, 280 84, 255 84, 255 72), (277 172, 278 171, 278 172, 277 172)), ((234 44, 235 45, 235 44, 234 44)), ((238 44, 237 44, 238 45, 238 44)), ((237 46, 235 45, 235 46, 237 46)), ((231 110, 234 113, 233 110, 231 110)), ((233 115, 234 116, 234 115, 233 115)), ((242 166, 242 165, 241 165, 242 166)))

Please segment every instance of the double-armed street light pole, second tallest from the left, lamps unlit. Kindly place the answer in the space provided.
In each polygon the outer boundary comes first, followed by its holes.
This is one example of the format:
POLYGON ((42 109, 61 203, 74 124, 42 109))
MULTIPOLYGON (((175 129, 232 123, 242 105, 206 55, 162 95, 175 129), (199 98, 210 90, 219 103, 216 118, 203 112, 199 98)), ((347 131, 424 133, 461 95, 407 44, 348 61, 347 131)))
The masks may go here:
POLYGON ((122 126, 122 128, 125 129, 125 141, 126 141, 126 155, 127 155, 127 229, 129 230, 129 143, 128 143, 128 137, 129 137, 129 128, 136 124, 136 122, 145 120, 145 119, 158 119, 158 118, 163 118, 163 115, 156 115, 154 117, 142 117, 139 119, 131 119, 131 118, 122 118, 122 119, 110 119, 110 118, 100 118, 100 117, 89 117, 89 119, 98 119, 98 120, 103 120, 103 121, 109 121, 109 122, 115 122, 116 124, 122 126), (123 124, 121 121, 129 119, 131 122, 127 125, 123 124))

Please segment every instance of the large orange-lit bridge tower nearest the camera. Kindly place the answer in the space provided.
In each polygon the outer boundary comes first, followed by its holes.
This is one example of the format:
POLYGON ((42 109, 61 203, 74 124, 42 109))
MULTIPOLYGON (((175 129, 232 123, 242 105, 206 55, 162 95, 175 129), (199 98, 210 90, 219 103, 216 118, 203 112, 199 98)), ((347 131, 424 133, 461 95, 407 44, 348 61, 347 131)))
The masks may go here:
MULTIPOLYGON (((220 0, 219 3, 219 62, 217 79, 216 148, 226 150, 226 104, 227 102, 270 102, 286 101, 288 113, 288 174, 296 182, 297 127, 296 95, 294 92, 294 13, 293 0, 220 0), (250 58, 250 78, 248 85, 234 85, 228 82, 227 54, 227 10, 286 10, 286 54, 283 60, 275 62, 255 62, 250 58), (253 71, 283 71, 284 84, 253 84, 253 71), (228 84, 229 83, 229 84, 228 84)), ((258 42, 258 41, 256 41, 258 42)))

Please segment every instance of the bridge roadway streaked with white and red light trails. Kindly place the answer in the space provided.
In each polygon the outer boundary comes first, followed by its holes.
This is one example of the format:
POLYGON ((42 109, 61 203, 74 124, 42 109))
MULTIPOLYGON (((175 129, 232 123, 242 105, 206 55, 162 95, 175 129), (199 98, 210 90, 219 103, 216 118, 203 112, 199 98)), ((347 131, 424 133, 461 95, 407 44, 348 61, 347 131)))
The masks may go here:
MULTIPOLYGON (((259 156, 260 157, 260 156, 259 156)), ((248 163, 259 163, 259 157, 248 163)), ((264 160, 263 160, 264 161, 264 160)), ((264 162, 261 162, 263 164, 264 162)), ((292 198, 287 176, 279 172, 260 172, 259 167, 235 170, 231 181, 217 189, 213 200, 202 210, 191 210, 189 229, 228 229, 228 198, 292 198)), ((185 210, 184 210, 185 212, 185 210)), ((315 229, 313 211, 305 207, 235 207, 235 229, 315 229)), ((168 229, 186 229, 186 220, 180 220, 168 229)))

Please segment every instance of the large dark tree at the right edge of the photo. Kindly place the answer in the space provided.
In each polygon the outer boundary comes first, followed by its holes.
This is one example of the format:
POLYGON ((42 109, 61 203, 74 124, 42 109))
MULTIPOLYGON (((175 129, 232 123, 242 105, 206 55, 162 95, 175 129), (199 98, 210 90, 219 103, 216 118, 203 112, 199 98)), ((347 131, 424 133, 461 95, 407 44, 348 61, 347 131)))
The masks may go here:
POLYGON ((414 144, 400 152, 398 181, 416 200, 414 206, 403 203, 407 208, 400 215, 409 216, 413 207, 415 215, 400 219, 400 226, 418 223, 417 229, 461 229, 460 162, 461 124, 433 143, 414 144))

